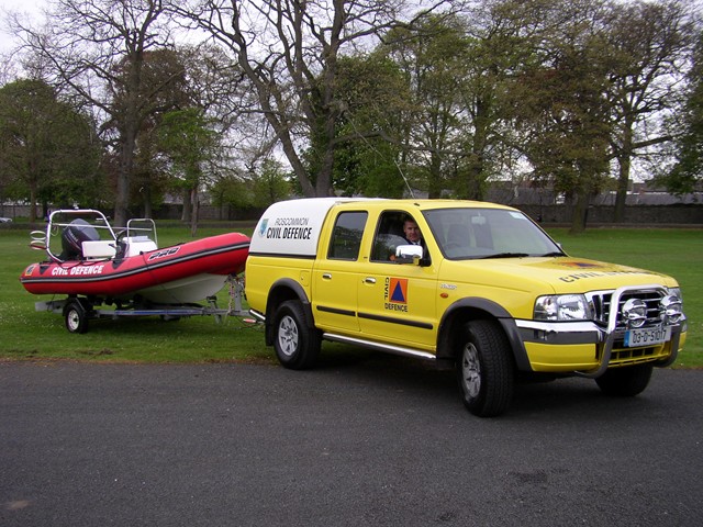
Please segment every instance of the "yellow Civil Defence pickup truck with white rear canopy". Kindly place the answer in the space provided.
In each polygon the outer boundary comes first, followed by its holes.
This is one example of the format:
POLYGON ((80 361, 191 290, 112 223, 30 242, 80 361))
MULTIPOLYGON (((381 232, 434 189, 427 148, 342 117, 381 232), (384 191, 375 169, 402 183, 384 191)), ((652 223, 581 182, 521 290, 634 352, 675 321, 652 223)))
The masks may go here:
POLYGON ((518 210, 484 202, 275 203, 245 291, 284 367, 314 366, 323 339, 429 359, 456 367, 479 416, 505 412, 525 375, 636 395, 687 332, 673 278, 569 257, 518 210))

